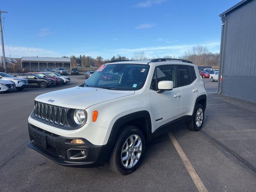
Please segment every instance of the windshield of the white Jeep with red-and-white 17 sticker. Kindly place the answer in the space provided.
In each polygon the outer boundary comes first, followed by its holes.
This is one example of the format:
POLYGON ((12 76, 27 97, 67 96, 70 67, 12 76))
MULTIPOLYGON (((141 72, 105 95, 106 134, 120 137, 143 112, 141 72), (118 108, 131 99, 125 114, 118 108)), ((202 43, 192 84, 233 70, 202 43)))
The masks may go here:
POLYGON ((98 87, 112 90, 139 90, 143 87, 149 65, 108 64, 102 65, 84 83, 84 87, 98 87))

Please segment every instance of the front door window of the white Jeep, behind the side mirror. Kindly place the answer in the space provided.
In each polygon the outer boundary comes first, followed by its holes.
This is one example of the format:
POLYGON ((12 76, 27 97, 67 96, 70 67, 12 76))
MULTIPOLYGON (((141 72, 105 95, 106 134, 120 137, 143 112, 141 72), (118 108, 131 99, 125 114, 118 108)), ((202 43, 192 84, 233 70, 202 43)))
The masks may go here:
POLYGON ((150 88, 152 90, 157 90, 158 82, 160 81, 173 81, 173 87, 177 87, 175 65, 163 65, 156 67, 150 88))

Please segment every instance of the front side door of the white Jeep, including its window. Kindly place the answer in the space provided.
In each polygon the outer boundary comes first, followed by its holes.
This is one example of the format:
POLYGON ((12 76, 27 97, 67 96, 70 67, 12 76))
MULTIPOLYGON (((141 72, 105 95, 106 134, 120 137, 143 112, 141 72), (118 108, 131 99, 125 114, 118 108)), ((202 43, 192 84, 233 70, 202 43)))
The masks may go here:
POLYGON ((176 65, 156 67, 150 87, 150 100, 153 110, 153 132, 180 117, 181 89, 177 87, 176 65), (158 93, 158 82, 164 80, 173 81, 174 88, 158 93))

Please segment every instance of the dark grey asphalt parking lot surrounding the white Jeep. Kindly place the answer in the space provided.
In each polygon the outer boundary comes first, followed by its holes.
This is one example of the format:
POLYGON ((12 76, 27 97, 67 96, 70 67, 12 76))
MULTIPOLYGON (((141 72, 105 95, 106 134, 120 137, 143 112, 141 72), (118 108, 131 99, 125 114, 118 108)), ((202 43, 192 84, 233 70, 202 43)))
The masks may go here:
MULTIPOLYGON (((34 98, 76 86, 27 88, 0 94, 0 191, 198 191, 168 134, 146 147, 141 166, 120 176, 101 168, 60 166, 28 148, 27 119, 34 98)), ((204 79, 208 93, 217 82, 204 79)), ((208 94, 204 127, 170 128, 206 190, 256 191, 256 103, 208 94)))

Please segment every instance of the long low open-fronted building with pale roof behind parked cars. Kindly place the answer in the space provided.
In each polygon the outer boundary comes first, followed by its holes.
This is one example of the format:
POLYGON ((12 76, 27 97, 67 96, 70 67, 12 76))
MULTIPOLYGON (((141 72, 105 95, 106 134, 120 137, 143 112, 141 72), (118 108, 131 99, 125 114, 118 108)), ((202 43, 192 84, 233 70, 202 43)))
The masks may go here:
POLYGON ((55 69, 63 67, 71 70, 70 58, 59 57, 22 57, 21 68, 24 71, 36 72, 38 69, 55 69))

